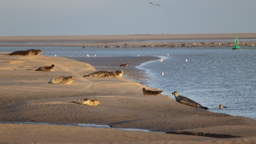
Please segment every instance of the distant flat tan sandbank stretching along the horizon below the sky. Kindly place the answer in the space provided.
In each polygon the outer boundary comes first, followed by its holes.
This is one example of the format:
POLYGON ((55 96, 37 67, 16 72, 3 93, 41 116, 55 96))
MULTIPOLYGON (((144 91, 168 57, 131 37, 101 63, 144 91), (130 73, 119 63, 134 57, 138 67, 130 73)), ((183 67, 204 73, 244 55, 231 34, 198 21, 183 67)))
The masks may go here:
POLYGON ((179 34, 179 35, 84 35, 84 36, 0 36, 0 47, 189 47, 232 46, 233 42, 189 43, 186 40, 252 39, 245 46, 256 45, 256 33, 230 34, 179 34), (184 43, 145 42, 160 40, 184 40, 184 43), (130 42, 135 41, 135 42, 130 42), (201 44, 200 44, 201 43, 201 44))

